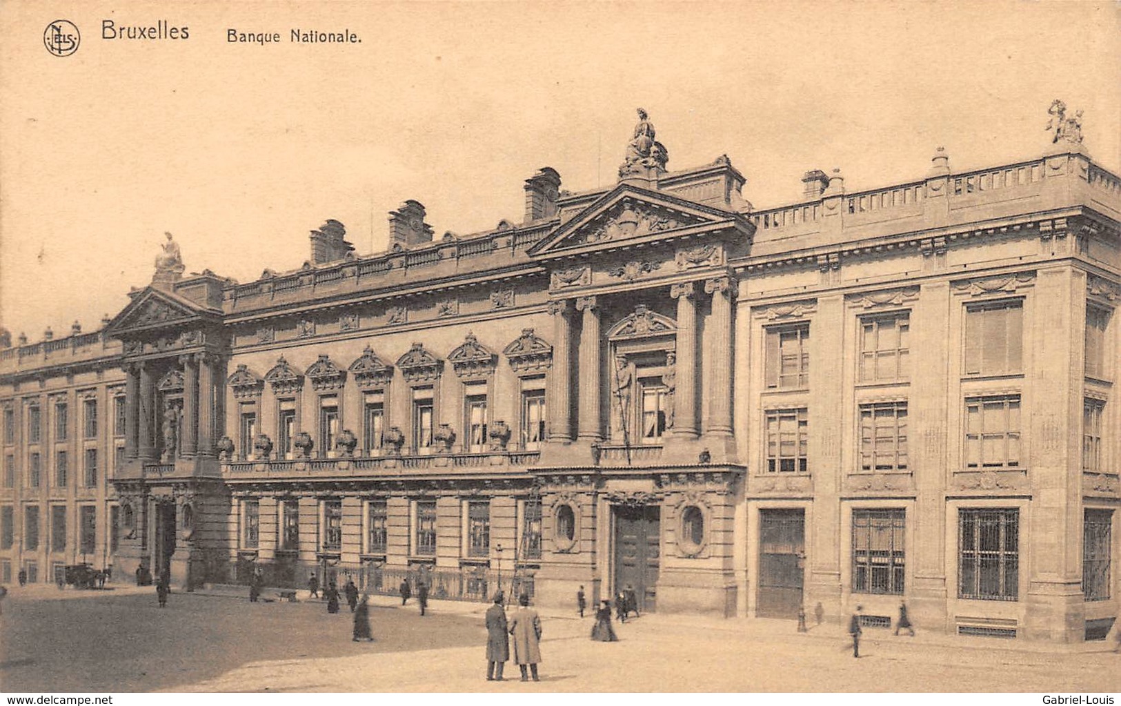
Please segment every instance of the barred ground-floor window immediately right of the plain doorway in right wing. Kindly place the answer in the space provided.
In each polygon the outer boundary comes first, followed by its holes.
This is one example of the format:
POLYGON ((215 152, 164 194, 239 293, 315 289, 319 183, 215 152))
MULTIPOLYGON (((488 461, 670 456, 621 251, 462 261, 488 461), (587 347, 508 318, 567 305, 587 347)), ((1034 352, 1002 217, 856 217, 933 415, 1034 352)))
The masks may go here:
POLYGON ((904 593, 905 510, 852 511, 853 593, 904 593))

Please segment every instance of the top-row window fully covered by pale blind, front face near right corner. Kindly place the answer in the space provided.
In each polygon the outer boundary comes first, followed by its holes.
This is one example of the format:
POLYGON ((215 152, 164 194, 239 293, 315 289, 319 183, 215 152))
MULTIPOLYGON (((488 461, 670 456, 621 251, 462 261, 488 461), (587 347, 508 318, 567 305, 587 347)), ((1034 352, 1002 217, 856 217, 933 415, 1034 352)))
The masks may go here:
POLYGON ((965 374, 1001 375, 1023 369, 1023 304, 995 301, 965 309, 965 374))

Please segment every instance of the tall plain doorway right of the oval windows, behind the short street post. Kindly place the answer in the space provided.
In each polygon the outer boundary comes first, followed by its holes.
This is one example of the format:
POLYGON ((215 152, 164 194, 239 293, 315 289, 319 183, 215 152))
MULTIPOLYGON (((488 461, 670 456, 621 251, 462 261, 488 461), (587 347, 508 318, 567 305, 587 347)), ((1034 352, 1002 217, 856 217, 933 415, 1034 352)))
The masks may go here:
POLYGON ((759 511, 760 617, 797 617, 806 563, 806 518, 802 510, 759 511))

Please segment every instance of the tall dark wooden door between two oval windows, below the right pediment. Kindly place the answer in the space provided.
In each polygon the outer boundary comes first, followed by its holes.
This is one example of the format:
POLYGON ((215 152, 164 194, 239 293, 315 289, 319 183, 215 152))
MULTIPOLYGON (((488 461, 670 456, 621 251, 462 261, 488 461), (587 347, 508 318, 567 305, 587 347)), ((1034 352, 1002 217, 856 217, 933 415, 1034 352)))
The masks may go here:
POLYGON ((661 512, 657 505, 615 508, 615 593, 630 586, 639 612, 654 612, 661 512))

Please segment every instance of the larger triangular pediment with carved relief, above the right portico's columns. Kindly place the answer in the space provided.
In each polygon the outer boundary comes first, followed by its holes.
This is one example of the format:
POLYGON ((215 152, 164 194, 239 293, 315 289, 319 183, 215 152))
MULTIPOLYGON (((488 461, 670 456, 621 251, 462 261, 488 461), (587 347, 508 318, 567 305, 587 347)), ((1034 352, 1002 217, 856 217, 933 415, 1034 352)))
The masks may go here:
POLYGON ((562 223, 529 250, 531 256, 614 247, 629 240, 673 236, 708 224, 728 223, 742 216, 679 196, 620 184, 562 223))

